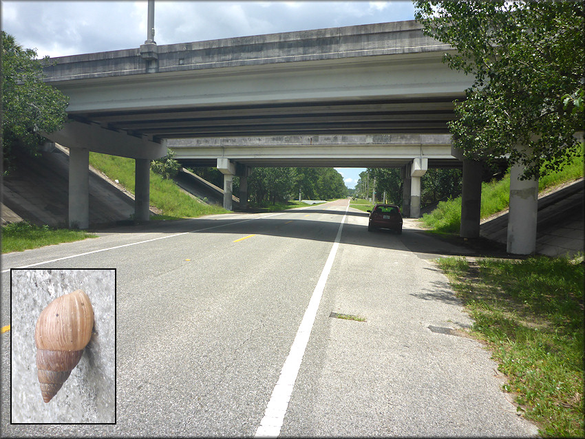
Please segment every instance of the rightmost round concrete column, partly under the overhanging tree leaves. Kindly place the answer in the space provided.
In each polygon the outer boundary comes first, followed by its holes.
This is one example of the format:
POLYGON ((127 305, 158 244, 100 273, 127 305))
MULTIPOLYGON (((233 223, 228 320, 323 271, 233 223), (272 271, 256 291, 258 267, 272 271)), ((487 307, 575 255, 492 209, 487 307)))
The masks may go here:
POLYGON ((510 211, 506 251, 515 255, 530 255, 536 250, 538 180, 518 180, 523 172, 524 167, 518 164, 510 170, 510 211))

